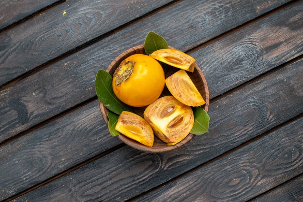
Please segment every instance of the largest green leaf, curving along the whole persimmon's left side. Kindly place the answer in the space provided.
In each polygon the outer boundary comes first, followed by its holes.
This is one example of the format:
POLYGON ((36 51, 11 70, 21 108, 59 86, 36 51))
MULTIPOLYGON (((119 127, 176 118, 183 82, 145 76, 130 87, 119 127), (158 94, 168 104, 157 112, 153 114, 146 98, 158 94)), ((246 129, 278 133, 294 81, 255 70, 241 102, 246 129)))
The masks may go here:
POLYGON ((117 115, 120 115, 123 111, 132 112, 132 108, 120 101, 115 95, 112 81, 113 78, 108 72, 98 70, 95 80, 95 89, 99 101, 104 104, 108 110, 116 113, 117 115))

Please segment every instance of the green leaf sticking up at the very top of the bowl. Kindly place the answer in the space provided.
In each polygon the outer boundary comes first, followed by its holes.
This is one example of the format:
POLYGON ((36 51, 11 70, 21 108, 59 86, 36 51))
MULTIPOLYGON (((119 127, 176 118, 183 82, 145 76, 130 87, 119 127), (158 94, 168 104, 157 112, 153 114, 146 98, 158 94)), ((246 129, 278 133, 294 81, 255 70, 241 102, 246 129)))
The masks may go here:
POLYGON ((156 34, 153 31, 150 31, 146 35, 144 41, 144 50, 146 55, 149 56, 150 54, 152 54, 152 52, 164 48, 168 48, 168 45, 162 36, 156 34))

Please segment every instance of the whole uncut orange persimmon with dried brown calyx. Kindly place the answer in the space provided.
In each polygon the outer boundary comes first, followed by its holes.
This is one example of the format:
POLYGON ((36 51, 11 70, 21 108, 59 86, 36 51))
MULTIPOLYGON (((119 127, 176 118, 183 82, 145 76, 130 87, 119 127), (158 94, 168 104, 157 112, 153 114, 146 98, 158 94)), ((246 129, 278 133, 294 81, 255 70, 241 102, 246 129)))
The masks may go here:
POLYGON ((135 54, 121 62, 114 73, 112 86, 122 102, 134 107, 147 106, 163 91, 164 71, 154 58, 135 54))

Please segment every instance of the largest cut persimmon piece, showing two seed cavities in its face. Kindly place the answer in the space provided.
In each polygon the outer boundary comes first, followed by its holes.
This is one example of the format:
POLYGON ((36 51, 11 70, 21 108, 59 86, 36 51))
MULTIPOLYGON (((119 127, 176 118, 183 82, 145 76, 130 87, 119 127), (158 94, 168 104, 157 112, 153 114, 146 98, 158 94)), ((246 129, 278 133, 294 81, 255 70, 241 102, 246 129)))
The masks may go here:
POLYGON ((144 111, 144 118, 158 138, 168 145, 182 141, 194 125, 191 107, 173 96, 165 96, 152 102, 144 111))

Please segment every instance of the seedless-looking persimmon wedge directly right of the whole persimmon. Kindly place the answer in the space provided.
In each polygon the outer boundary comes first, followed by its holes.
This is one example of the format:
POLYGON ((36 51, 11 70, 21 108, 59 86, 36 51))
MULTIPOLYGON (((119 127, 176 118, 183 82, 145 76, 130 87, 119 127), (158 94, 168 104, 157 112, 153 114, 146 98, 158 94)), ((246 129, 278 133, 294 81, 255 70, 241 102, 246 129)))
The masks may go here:
POLYGON ((204 99, 197 90, 188 74, 180 70, 165 80, 169 92, 183 104, 188 106, 201 106, 205 104, 204 99))

